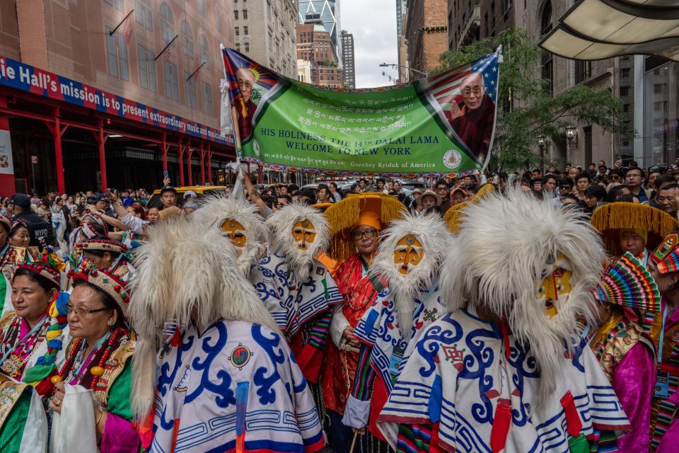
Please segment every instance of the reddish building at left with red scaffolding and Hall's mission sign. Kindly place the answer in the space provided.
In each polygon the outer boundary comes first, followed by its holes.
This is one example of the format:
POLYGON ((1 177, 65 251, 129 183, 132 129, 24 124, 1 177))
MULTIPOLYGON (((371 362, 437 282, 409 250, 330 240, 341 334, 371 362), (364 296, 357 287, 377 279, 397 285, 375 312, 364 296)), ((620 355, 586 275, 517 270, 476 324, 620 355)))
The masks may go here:
POLYGON ((175 185, 219 182, 234 156, 215 133, 220 44, 233 45, 232 0, 0 0, 0 63, 60 82, 0 76, 16 190, 153 188, 165 169, 175 185))

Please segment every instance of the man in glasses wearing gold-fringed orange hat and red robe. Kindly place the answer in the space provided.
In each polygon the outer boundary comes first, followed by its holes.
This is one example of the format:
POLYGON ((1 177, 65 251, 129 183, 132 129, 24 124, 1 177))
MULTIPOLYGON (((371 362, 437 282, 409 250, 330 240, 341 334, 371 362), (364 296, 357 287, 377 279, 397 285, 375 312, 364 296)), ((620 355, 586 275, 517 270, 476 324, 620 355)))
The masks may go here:
MULTIPOLYGON (((353 336, 354 328, 383 289, 368 272, 380 231, 404 213, 402 203, 383 193, 349 195, 325 211, 332 235, 327 254, 342 263, 335 273, 335 282, 344 297, 332 317, 332 343, 327 345, 321 377, 321 391, 330 418, 326 432, 330 447, 337 453, 348 453, 354 438, 352 429, 342 424, 359 356, 360 343, 353 336)), ((356 442, 360 443, 356 445, 358 451, 377 452, 386 447, 373 436, 360 436, 356 442)))

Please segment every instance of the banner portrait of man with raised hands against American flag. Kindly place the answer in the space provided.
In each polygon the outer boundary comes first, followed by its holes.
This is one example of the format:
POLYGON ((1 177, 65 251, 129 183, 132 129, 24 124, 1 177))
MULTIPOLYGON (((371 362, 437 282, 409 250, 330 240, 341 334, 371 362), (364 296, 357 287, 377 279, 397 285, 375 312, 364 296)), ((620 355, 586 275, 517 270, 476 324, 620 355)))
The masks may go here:
POLYGON ((480 72, 472 72, 460 84, 463 102, 453 101, 451 110, 445 110, 446 118, 472 154, 483 162, 488 155, 493 134, 495 103, 486 94, 486 86, 480 72))

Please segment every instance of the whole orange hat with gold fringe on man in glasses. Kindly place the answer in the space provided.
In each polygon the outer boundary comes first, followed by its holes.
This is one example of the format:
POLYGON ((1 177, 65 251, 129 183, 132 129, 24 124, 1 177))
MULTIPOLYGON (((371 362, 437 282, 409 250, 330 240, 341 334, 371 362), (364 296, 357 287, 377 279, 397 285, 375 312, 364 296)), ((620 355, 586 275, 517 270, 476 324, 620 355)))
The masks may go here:
POLYGON ((351 232, 356 226, 367 225, 380 231, 406 209, 396 197, 384 193, 349 195, 325 210, 330 223, 330 258, 342 263, 356 253, 351 232))

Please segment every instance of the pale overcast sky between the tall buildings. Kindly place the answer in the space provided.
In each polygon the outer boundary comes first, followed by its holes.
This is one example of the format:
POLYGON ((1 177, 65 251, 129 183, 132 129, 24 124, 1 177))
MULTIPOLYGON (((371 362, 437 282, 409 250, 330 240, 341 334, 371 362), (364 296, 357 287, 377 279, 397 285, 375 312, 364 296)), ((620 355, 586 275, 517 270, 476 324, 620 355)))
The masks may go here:
POLYGON ((356 88, 392 85, 382 71, 397 78, 396 0, 340 0, 340 25, 354 34, 356 88))

